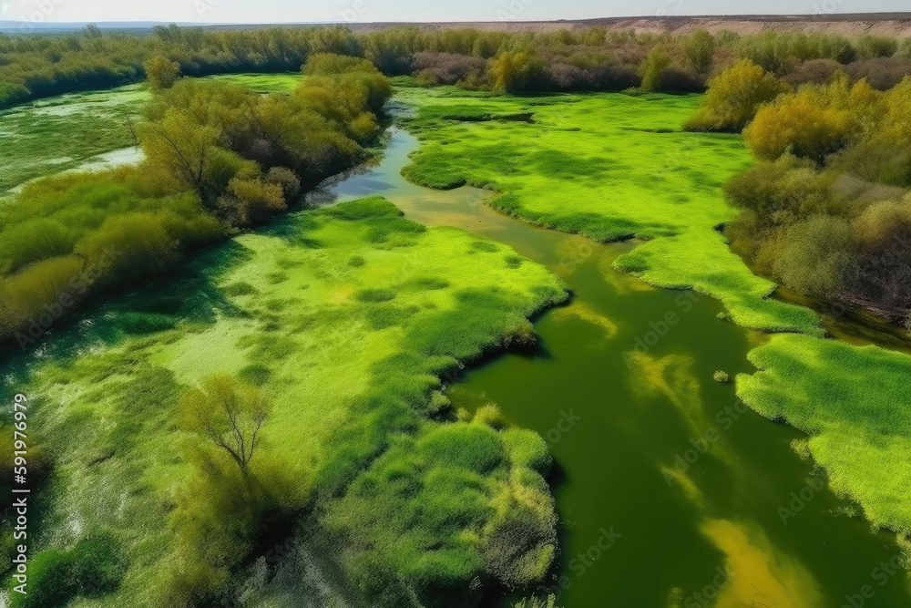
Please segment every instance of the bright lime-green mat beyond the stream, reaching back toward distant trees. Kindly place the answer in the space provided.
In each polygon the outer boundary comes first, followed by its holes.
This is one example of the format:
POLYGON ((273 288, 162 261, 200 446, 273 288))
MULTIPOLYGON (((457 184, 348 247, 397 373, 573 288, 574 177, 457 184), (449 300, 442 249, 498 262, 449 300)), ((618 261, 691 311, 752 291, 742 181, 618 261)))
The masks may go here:
POLYGON ((681 132, 699 98, 490 97, 454 88, 401 95, 417 106, 406 124, 425 142, 408 179, 490 188, 494 208, 548 228, 639 239, 617 267, 711 294, 747 327, 818 331, 810 311, 767 299, 774 284, 753 275, 715 230, 736 214, 722 201, 722 183, 749 159, 736 136, 681 132))

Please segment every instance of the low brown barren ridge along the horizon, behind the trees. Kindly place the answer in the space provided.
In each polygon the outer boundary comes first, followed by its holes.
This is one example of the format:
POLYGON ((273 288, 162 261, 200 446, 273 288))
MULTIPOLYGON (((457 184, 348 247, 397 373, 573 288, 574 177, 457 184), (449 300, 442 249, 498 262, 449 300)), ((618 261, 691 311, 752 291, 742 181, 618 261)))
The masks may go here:
MULTIPOLYGON (((505 15, 508 17, 508 15, 505 15)), ((30 24, 20 21, 0 20, 0 32, 55 34, 71 32, 85 27, 90 22, 30 24)), ((102 29, 120 31, 150 31, 153 26, 166 26, 157 21, 110 21, 97 23, 102 29)), ((179 26, 201 26, 206 29, 254 29, 258 27, 303 27, 332 26, 330 23, 285 23, 285 24, 200 24, 179 23, 179 26)), ((819 15, 663 15, 641 17, 604 17, 599 19, 520 21, 504 18, 500 21, 462 21, 434 23, 345 23, 354 31, 373 31, 392 26, 418 26, 423 29, 444 27, 476 27, 479 29, 506 29, 513 31, 548 31, 568 28, 578 29, 590 26, 605 26, 609 29, 635 29, 639 32, 686 33, 698 28, 709 31, 730 30, 738 34, 752 34, 766 30, 790 32, 830 32, 857 36, 875 34, 879 36, 911 36, 911 13, 855 13, 819 15)))

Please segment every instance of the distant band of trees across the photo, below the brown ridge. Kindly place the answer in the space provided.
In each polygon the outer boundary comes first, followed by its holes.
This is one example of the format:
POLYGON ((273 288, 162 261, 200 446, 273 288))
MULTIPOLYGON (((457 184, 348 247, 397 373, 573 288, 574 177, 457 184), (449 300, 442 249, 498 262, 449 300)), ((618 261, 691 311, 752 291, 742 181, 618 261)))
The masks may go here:
POLYGON ((296 71, 322 53, 364 58, 387 76, 413 76, 426 85, 505 91, 702 91, 709 77, 739 59, 791 84, 824 80, 840 67, 880 89, 911 74, 911 42, 870 35, 697 30, 672 36, 605 27, 505 32, 416 26, 355 34, 343 26, 210 31, 171 25, 138 36, 88 26, 62 36, 0 35, 0 108, 138 82, 152 57, 199 77, 296 71))

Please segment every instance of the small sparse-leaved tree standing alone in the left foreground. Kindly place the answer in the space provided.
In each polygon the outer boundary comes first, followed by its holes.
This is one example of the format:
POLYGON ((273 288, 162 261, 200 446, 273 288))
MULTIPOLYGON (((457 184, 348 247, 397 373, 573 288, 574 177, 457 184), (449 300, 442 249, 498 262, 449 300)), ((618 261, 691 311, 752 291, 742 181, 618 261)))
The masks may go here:
POLYGON ((210 376, 180 401, 181 426, 228 452, 245 477, 269 412, 258 388, 225 374, 210 376))

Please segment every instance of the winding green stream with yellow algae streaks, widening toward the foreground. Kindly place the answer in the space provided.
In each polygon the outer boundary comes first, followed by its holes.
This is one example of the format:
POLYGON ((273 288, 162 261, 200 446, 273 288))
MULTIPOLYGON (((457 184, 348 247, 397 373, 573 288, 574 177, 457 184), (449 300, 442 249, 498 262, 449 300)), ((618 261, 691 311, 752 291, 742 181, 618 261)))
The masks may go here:
POLYGON ((486 191, 405 181, 419 145, 393 129, 382 163, 330 197, 380 194, 415 222, 506 243, 575 294, 537 319, 535 353, 497 357, 448 388, 456 407, 496 403, 547 439, 562 520, 549 582, 558 605, 911 606, 904 572, 886 573, 900 552, 891 535, 824 488, 791 447, 800 432, 712 379, 751 373, 746 354, 762 335, 720 320, 708 297, 613 270, 631 244, 536 228, 488 208, 486 191))

